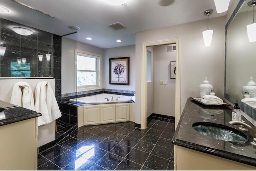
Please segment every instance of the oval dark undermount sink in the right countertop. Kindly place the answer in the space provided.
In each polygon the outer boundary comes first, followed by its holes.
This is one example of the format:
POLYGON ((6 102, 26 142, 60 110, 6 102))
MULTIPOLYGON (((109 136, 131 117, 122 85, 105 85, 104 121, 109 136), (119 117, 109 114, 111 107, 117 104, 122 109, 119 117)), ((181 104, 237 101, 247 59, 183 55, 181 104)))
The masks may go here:
POLYGON ((248 136, 245 133, 226 125, 196 122, 192 124, 192 127, 203 135, 223 141, 240 142, 248 140, 248 136))

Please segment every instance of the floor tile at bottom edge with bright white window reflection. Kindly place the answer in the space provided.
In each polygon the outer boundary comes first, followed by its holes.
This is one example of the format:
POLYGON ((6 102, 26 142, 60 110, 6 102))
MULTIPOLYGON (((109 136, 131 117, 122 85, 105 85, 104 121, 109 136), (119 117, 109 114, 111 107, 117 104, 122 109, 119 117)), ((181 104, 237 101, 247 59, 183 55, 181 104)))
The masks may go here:
POLYGON ((85 159, 84 157, 78 157, 75 161, 64 167, 64 170, 88 170, 94 165, 93 162, 85 159))

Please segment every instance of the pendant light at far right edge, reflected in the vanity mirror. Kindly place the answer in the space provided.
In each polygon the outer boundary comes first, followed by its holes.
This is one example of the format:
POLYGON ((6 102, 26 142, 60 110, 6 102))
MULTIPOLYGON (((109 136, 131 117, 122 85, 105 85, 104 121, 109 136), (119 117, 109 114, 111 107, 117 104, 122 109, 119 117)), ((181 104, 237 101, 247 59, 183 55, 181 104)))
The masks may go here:
POLYGON ((253 19, 252 24, 248 24, 246 26, 247 28, 247 35, 249 42, 255 42, 256 41, 256 23, 254 23, 254 7, 256 6, 256 0, 252 0, 247 3, 248 6, 253 7, 253 19))

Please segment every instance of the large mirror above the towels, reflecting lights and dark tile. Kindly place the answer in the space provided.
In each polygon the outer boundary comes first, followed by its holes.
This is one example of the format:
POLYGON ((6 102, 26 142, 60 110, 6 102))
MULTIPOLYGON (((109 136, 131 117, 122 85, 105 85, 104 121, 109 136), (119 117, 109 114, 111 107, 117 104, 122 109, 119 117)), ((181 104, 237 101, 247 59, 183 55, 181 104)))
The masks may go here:
POLYGON ((53 77, 53 17, 1 0, 0 78, 53 77))

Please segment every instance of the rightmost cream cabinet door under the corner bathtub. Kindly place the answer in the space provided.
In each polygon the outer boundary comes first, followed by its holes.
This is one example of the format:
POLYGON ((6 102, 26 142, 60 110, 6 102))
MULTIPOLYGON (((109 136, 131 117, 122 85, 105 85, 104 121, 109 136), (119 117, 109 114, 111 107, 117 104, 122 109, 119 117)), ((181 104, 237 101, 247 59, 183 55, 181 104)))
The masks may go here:
POLYGON ((130 120, 130 105, 129 103, 116 104, 116 122, 130 120))

